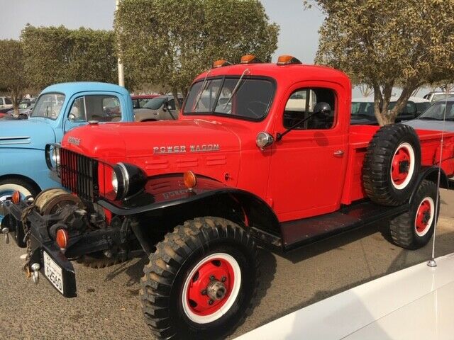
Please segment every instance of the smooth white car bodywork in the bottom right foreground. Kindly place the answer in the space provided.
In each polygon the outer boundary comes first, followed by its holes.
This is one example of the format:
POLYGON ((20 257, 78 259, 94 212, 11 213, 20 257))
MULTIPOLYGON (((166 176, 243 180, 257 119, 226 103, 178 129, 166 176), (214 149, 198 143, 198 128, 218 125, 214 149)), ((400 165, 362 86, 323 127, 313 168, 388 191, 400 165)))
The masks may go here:
POLYGON ((236 340, 452 340, 454 253, 382 276, 236 340))

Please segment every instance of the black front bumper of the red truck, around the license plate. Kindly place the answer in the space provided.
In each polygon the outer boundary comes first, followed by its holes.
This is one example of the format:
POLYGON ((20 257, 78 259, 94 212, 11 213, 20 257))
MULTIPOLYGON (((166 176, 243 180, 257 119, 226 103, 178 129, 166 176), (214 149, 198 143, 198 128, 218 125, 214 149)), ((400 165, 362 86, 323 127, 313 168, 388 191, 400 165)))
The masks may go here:
MULTIPOLYGON (((16 244, 20 247, 26 247, 24 242, 24 232, 21 222, 22 212, 28 204, 21 201, 18 204, 13 204, 9 201, 4 202, 4 209, 6 215, 1 221, 1 228, 8 227, 10 232, 13 233, 13 238, 16 244)), ((62 270, 62 295, 65 297, 76 297, 76 276, 74 274, 74 267, 72 263, 66 258, 65 254, 55 244, 55 241, 49 237, 48 228, 45 220, 38 212, 32 210, 27 217, 28 227, 30 228, 31 240, 31 259, 28 263, 28 269, 31 270, 33 263, 40 265, 40 273, 51 283, 49 278, 45 275, 45 263, 43 259, 43 252, 52 259, 57 266, 62 270)), ((51 283, 52 287, 55 286, 51 283)), ((57 290, 57 288, 55 288, 57 290)), ((57 290, 59 293, 60 290, 57 290)))

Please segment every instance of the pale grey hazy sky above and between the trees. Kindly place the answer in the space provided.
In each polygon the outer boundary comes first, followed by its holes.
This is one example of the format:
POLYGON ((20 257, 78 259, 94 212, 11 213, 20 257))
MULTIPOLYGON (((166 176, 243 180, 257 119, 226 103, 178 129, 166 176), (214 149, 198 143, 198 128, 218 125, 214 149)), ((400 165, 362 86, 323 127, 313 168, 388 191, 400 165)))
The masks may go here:
MULTIPOLYGON (((262 0, 270 20, 281 30, 276 55, 290 54, 314 62, 323 21, 317 9, 304 11, 302 0, 262 0)), ((111 29, 115 0, 0 0, 0 39, 18 39, 26 23, 111 29)))

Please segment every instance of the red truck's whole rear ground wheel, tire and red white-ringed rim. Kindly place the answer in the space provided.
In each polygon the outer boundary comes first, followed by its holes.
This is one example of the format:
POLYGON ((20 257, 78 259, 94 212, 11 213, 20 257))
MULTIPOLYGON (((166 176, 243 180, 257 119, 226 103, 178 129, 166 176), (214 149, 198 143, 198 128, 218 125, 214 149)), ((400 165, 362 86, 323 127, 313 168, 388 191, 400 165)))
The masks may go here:
POLYGON ((410 209, 395 217, 390 224, 391 237, 395 244, 406 249, 425 246, 433 235, 439 212, 436 209, 437 186, 432 181, 423 181, 411 200, 410 209))

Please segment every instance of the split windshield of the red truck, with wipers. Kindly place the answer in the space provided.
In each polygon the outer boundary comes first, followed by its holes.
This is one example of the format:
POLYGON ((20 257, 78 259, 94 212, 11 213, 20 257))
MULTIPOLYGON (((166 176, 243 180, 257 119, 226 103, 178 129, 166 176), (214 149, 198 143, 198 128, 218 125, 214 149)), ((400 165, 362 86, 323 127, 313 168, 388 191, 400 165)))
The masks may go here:
POLYGON ((274 96, 267 79, 218 78, 192 85, 183 113, 187 115, 228 115, 232 118, 262 120, 274 96), (203 86, 203 88, 202 88, 203 86))

